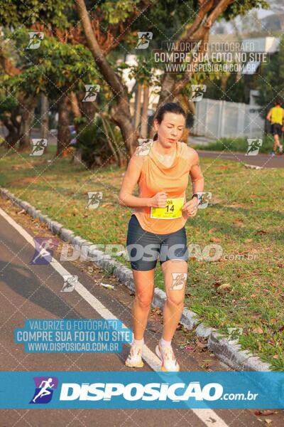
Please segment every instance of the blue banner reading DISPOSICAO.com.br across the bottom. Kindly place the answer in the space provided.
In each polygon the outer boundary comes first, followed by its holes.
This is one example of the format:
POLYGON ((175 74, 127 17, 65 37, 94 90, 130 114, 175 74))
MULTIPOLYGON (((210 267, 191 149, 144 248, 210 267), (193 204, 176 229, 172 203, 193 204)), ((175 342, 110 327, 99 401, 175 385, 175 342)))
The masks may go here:
POLYGON ((284 372, 1 372, 0 408, 284 408, 284 372))

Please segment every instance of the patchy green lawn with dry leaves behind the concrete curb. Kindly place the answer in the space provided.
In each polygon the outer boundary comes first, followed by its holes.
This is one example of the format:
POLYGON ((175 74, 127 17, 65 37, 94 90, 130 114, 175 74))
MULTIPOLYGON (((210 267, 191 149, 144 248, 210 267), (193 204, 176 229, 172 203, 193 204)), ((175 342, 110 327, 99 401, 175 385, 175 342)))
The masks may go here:
MULTIPOLYGON (((0 148, 0 185, 83 238, 125 246, 132 209, 118 204, 124 171, 90 172, 70 159, 48 163, 52 158, 53 153, 35 158, 0 148), (98 209, 85 209, 87 191, 103 192, 98 209)), ((215 262, 190 259, 186 305, 226 335, 228 327, 243 328, 242 347, 283 371, 284 169, 246 169, 224 159, 202 158, 201 165, 212 204, 188 219, 187 244, 202 250, 218 244, 223 255, 215 262)), ((130 266, 122 256, 119 260, 130 266)), ((163 288, 159 266, 155 285, 163 288)))

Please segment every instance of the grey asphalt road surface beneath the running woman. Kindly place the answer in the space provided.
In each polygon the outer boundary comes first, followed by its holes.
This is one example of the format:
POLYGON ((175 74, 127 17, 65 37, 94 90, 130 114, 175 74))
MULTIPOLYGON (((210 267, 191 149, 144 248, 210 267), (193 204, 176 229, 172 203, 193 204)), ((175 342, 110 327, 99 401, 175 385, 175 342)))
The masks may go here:
MULTIPOLYGON (((31 354, 23 344, 15 344, 13 332, 23 327, 26 319, 43 318, 102 318, 102 309, 78 292, 60 292, 62 275, 48 265, 29 264, 34 248, 27 236, 53 236, 45 226, 31 219, 10 201, 0 198, 0 365, 2 371, 129 371, 124 360, 129 347, 119 354, 31 354), (8 214, 8 216, 6 216, 8 214), (10 219, 9 219, 10 218, 10 219), (8 221, 9 219, 9 221, 8 221), (16 221, 13 223, 13 221, 16 221), (26 234, 25 233, 28 233, 26 234)), ((59 249, 54 258, 59 260, 59 249)), ((115 278, 89 261, 59 261, 62 268, 77 275, 84 289, 124 325, 131 328, 133 295, 115 278), (100 282, 111 283, 115 290, 99 287, 100 282)), ((157 364, 155 344, 160 338, 162 319, 152 310, 145 334, 148 363, 143 371, 151 371, 157 364)), ((226 371, 224 364, 202 347, 191 332, 180 329, 175 334, 173 348, 183 371, 226 371), (180 343, 190 343, 190 350, 180 349, 180 343)), ((272 427, 283 426, 283 411, 271 416, 256 416, 255 410, 190 410, 190 409, 3 409, 0 426, 220 426, 257 427, 271 418, 272 427)))

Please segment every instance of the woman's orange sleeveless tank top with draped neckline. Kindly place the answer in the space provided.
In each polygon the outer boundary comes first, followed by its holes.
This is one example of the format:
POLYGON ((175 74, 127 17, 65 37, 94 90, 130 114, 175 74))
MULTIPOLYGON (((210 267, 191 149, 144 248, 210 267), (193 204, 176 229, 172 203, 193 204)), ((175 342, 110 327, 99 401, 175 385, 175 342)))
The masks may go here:
MULTIPOLYGON (((144 157, 141 174, 138 180, 139 197, 153 197, 159 191, 166 191, 167 198, 181 198, 186 202, 185 191, 190 172, 190 159, 185 142, 176 143, 176 155, 170 167, 165 166, 155 155, 153 146, 144 157)), ((145 231, 155 234, 168 234, 182 228, 187 219, 180 218, 151 218, 151 208, 138 207, 133 210, 138 222, 145 231)))

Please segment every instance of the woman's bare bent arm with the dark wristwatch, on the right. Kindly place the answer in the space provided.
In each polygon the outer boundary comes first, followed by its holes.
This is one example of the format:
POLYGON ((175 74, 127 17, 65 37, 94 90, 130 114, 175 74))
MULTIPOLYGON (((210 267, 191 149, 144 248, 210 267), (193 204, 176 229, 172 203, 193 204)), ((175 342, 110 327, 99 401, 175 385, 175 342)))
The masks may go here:
MULTIPOLYGON (((192 181, 192 194, 200 193, 204 189, 204 177, 200 169, 200 157, 195 149, 188 147, 190 154, 190 178, 192 181)), ((198 200, 196 197, 187 201, 182 206, 183 214, 186 218, 197 214, 198 200)))

